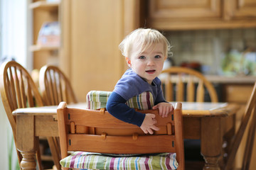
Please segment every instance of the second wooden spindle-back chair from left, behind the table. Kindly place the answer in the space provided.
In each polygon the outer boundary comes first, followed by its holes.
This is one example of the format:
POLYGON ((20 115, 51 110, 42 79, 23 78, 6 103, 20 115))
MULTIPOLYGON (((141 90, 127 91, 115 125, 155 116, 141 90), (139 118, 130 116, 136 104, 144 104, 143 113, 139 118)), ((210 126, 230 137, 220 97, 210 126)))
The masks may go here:
MULTIPOLYGON (((55 106, 61 101, 67 103, 78 103, 69 79, 58 67, 53 65, 45 65, 39 72, 39 87, 43 97, 45 106, 55 106)), ((50 149, 53 152, 53 160, 58 163, 57 168, 60 169, 60 142, 59 137, 51 137, 50 149)))

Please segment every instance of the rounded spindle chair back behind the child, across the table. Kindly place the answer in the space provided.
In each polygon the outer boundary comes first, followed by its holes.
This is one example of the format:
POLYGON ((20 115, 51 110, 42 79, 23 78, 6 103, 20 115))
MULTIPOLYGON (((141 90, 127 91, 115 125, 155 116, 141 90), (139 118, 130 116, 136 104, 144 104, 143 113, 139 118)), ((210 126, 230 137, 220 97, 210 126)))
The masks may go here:
POLYGON ((166 77, 162 79, 166 101, 203 102, 205 101, 205 89, 207 89, 210 101, 218 102, 213 84, 200 72, 186 67, 170 67, 164 69, 162 73, 166 74, 166 77), (196 84, 198 84, 197 87, 196 84), (176 96, 175 99, 174 96, 176 96))

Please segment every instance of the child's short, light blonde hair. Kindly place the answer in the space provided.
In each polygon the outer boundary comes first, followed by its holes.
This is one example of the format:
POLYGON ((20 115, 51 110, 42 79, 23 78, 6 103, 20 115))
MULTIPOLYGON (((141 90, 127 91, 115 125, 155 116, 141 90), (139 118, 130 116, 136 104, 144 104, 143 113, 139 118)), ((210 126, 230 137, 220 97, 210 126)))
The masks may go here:
POLYGON ((155 45, 159 42, 163 43, 164 55, 165 57, 168 57, 169 50, 171 49, 169 41, 158 30, 151 28, 138 28, 137 30, 132 31, 132 33, 129 33, 129 35, 127 35, 119 44, 119 49, 124 57, 129 57, 129 52, 134 43, 139 47, 139 54, 144 52, 148 47, 151 47, 151 45, 155 45))

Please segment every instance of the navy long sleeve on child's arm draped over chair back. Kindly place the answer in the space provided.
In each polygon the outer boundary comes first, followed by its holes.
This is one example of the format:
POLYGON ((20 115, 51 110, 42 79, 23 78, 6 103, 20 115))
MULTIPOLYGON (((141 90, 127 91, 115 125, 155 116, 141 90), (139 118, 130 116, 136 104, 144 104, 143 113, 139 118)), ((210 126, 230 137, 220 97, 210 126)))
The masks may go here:
POLYGON ((145 114, 135 111, 134 108, 130 108, 126 102, 122 96, 113 91, 107 99, 107 111, 119 120, 140 127, 144 121, 145 114))

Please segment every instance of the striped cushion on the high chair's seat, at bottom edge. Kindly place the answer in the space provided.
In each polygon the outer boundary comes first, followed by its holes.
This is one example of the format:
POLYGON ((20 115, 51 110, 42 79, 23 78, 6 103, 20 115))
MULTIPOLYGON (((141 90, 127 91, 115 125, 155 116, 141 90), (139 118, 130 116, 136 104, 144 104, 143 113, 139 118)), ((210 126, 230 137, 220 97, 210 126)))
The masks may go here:
POLYGON ((76 169, 177 169, 175 153, 140 157, 108 157, 92 152, 74 152, 60 161, 61 166, 76 169))

